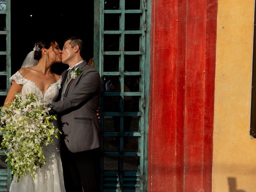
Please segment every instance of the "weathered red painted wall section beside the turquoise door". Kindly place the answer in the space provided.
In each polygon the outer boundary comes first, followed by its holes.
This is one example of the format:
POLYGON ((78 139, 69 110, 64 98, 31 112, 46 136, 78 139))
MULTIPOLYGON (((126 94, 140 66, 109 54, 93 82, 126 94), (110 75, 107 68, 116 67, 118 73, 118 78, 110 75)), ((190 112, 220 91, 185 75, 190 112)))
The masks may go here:
POLYGON ((211 192, 217 0, 152 0, 148 191, 211 192))

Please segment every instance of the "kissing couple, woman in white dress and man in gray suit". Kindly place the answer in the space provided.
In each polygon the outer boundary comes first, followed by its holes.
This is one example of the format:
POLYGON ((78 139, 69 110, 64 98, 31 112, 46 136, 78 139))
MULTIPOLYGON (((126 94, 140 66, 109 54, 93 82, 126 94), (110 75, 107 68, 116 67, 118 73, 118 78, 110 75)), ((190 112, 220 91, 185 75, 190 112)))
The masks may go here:
MULTIPOLYGON (((34 178, 28 173, 20 182, 15 176, 10 192, 100 191, 100 130, 96 110, 100 96, 99 72, 83 59, 83 42, 73 37, 60 50, 55 40, 35 44, 22 68, 11 78, 4 106, 15 93, 35 94, 58 115, 54 126, 59 139, 43 147, 46 165, 34 178), (53 63, 68 64, 61 76, 51 71, 53 63)), ((6 104, 7 103, 7 104, 6 104)))

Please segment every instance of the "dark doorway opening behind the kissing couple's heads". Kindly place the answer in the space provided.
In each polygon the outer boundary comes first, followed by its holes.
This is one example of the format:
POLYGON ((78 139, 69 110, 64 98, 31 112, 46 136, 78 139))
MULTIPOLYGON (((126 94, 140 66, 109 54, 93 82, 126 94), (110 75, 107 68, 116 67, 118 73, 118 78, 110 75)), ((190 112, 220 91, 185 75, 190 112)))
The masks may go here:
MULTIPOLYGON (((20 69, 34 43, 42 38, 55 38, 60 48, 68 37, 81 38, 86 60, 93 57, 94 1, 11 1, 11 67, 12 74, 20 69)), ((53 64, 61 74, 65 64, 53 64)))

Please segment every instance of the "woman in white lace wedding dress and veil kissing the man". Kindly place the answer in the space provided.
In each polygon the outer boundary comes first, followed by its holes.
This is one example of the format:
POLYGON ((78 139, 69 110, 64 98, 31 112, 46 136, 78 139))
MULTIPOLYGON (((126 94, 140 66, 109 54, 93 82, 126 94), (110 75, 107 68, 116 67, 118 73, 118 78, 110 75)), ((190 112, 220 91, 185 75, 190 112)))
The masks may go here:
MULTIPOLYGON (((56 100, 61 76, 51 72, 53 63, 61 62, 61 54, 58 44, 54 40, 40 41, 35 44, 22 64, 22 68, 11 78, 12 86, 6 96, 6 102, 14 100, 15 93, 22 95, 35 94, 39 100, 51 103, 56 100)), ((57 126, 57 122, 54 122, 57 126)), ((60 140, 54 138, 54 142, 43 148, 46 165, 38 168, 33 179, 27 173, 21 182, 12 180, 10 192, 64 192, 64 179, 62 162, 60 158, 60 140)))

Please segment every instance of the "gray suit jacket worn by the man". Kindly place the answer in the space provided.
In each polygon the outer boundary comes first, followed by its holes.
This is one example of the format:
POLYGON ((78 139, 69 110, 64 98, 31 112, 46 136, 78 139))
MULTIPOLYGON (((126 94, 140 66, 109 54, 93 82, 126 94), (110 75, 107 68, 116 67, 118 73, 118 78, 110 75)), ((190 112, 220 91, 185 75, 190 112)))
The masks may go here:
MULTIPOLYGON (((60 128, 71 152, 100 147, 100 129, 96 115, 100 97, 100 74, 86 61, 79 68, 82 72, 68 84, 63 100, 51 103, 52 109, 59 115, 60 128)), ((66 71, 62 73, 62 87, 66 71)))

